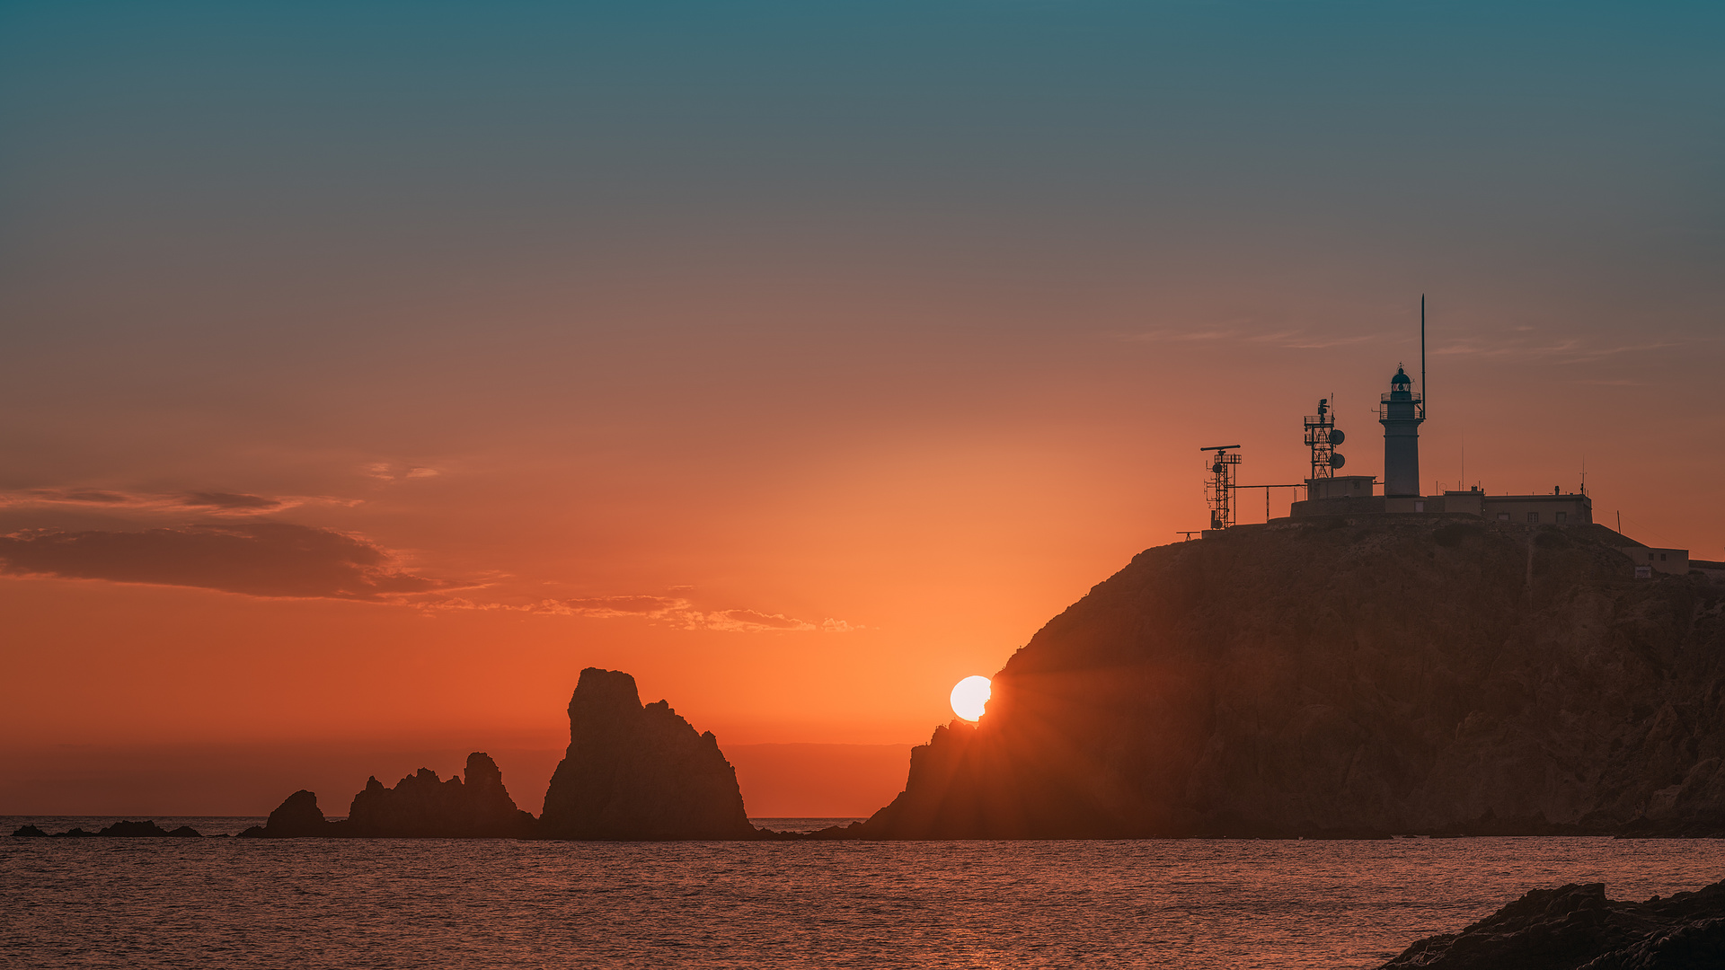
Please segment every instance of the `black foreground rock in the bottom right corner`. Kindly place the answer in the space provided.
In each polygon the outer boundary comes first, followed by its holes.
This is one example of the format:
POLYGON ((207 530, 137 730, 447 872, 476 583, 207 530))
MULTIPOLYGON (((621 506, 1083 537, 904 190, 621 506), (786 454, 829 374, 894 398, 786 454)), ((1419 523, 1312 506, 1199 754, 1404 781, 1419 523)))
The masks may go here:
POLYGON ((1535 889, 1383 970, 1711 970, 1725 967, 1725 882, 1670 899, 1606 899, 1601 882, 1535 889))

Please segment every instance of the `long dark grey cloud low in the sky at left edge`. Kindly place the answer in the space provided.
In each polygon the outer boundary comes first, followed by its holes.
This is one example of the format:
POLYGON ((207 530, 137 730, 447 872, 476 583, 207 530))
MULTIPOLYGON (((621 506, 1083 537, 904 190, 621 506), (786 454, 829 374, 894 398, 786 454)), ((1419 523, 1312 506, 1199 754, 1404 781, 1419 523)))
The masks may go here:
POLYGON ((373 602, 448 589, 361 537, 288 523, 16 532, 0 537, 0 573, 373 602))

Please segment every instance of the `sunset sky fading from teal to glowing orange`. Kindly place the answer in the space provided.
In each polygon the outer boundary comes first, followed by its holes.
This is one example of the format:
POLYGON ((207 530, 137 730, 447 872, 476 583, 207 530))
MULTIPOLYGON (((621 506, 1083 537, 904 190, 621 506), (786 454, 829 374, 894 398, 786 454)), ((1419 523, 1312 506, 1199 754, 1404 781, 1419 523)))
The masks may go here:
POLYGON ((488 747, 536 809, 585 666, 721 746, 902 753, 1204 526, 1197 449, 1299 482, 1330 397, 1380 475, 1421 293, 1428 488, 1585 468, 1725 559, 1722 31, 0 5, 0 811, 197 808, 140 787, 178 772, 264 813, 340 761, 336 815, 488 747))

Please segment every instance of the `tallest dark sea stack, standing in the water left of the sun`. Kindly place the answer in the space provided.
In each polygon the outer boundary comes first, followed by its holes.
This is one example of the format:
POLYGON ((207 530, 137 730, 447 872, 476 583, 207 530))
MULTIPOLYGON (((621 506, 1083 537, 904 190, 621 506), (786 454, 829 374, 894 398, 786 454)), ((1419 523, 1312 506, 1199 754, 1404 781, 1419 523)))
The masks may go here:
POLYGON ((642 706, 635 678, 586 668, 569 699, 569 751, 545 792, 549 839, 754 839, 737 772, 712 732, 659 701, 642 706))

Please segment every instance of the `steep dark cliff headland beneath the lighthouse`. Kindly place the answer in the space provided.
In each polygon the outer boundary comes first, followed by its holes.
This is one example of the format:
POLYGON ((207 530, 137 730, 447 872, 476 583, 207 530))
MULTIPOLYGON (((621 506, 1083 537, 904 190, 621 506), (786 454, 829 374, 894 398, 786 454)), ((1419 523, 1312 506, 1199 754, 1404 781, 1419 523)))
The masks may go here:
POLYGON ((935 732, 864 837, 1725 830, 1725 621, 1603 526, 1151 549, 935 732))

